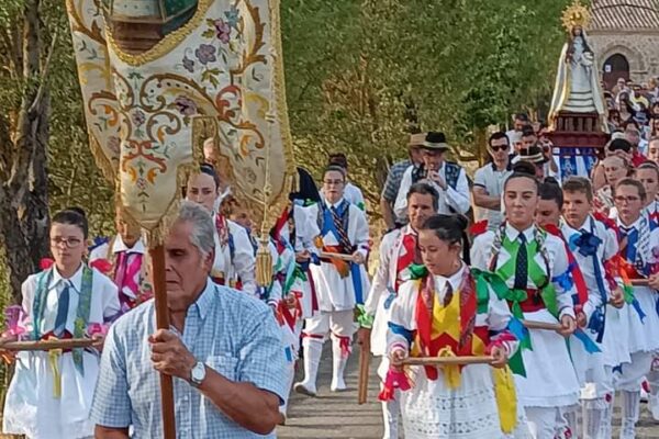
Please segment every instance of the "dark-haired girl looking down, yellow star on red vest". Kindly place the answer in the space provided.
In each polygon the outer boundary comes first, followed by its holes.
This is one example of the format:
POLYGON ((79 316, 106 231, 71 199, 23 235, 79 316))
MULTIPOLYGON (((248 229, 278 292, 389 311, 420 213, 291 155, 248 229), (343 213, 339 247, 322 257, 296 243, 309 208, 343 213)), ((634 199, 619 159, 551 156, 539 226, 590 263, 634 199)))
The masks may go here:
POLYGON ((506 330, 511 313, 495 294, 477 293, 474 275, 460 259, 466 226, 466 218, 453 215, 426 221, 418 235, 425 270, 401 285, 391 305, 388 352, 392 365, 380 397, 390 397, 392 387, 403 391, 406 438, 527 437, 505 368, 517 348, 517 340, 506 330), (401 367, 407 357, 485 354, 494 362, 463 368, 401 367))

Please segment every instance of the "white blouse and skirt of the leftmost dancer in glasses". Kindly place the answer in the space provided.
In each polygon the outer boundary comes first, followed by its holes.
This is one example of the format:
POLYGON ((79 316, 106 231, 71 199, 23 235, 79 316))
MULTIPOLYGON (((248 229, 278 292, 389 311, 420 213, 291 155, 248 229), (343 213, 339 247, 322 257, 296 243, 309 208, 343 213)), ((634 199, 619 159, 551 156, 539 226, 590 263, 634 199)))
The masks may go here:
MULTIPOLYGON (((47 334, 55 327, 58 299, 66 284, 69 284, 69 306, 66 330, 74 334, 78 299, 82 285, 82 267, 65 280, 53 267, 53 277, 45 294, 40 333, 47 334)), ((27 313, 27 334, 33 328, 32 307, 40 274, 32 274, 23 283, 23 309, 27 313)), ((92 292, 89 324, 104 324, 120 311, 116 286, 92 269, 92 292)), ((91 399, 99 373, 100 357, 85 350, 80 374, 74 363, 71 352, 57 358, 62 376, 62 394, 54 396, 54 375, 48 352, 19 352, 15 373, 4 402, 2 430, 5 434, 26 435, 32 439, 78 439, 93 436, 93 423, 89 418, 91 399)))

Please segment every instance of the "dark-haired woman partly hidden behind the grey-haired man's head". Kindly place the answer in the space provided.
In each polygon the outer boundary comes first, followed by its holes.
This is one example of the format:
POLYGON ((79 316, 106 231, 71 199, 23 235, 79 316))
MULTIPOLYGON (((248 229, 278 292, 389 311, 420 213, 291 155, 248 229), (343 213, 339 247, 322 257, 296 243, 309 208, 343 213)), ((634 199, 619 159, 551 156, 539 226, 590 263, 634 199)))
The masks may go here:
POLYGON ((256 258, 245 227, 227 219, 216 209, 220 196, 220 178, 212 166, 203 164, 200 172, 188 180, 186 196, 203 205, 213 216, 215 225, 215 260, 211 278, 220 284, 238 288, 257 295, 256 258))

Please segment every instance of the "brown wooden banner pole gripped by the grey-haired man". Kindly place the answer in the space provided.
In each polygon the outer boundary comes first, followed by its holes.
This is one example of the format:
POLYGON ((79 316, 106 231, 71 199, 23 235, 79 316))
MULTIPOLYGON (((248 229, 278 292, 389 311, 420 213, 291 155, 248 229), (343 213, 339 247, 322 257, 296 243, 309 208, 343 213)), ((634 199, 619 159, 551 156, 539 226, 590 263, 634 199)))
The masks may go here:
MULTIPOLYGON (((167 283, 165 280, 165 247, 159 245, 150 248, 148 252, 153 266, 156 327, 169 330, 169 308, 167 307, 167 283)), ((160 373, 160 406, 163 407, 163 438, 176 439, 174 382, 171 375, 165 373, 160 373)))

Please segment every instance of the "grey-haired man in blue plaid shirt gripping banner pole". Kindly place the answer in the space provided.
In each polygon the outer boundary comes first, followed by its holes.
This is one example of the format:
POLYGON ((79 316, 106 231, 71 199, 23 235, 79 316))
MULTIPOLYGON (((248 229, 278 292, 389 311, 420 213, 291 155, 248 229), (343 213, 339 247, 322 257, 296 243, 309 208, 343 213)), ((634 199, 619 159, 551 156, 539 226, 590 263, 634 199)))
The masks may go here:
POLYGON ((213 224, 185 202, 165 240, 171 329, 157 329, 154 302, 119 319, 101 360, 91 417, 97 438, 163 437, 158 373, 174 378, 178 437, 275 437, 284 356, 272 312, 213 283, 213 224), (148 340, 148 342, 144 342, 148 340))

